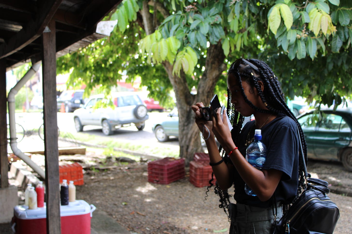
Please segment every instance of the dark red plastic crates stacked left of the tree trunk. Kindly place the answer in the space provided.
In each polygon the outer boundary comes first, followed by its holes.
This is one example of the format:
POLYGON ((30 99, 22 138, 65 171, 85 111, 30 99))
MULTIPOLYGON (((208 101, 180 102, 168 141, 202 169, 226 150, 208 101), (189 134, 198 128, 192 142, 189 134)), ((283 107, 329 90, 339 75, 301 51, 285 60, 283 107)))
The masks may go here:
POLYGON ((152 183, 169 184, 184 178, 184 159, 163 158, 148 162, 148 181, 152 183))

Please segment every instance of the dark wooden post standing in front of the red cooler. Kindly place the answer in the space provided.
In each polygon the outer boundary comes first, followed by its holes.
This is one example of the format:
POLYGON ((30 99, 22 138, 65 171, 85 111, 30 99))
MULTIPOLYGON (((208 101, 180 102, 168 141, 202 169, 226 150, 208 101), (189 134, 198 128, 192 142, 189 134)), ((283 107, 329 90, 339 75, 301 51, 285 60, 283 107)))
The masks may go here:
POLYGON ((44 32, 42 37, 46 233, 61 234, 55 20, 50 21, 48 28, 50 32, 44 32))

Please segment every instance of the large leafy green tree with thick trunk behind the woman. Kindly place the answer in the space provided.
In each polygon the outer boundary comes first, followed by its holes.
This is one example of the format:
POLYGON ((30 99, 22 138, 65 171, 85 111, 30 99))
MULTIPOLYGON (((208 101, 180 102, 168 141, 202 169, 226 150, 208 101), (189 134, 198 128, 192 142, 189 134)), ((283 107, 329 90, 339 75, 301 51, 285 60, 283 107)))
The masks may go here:
POLYGON ((143 74, 143 83, 159 87, 160 96, 172 87, 180 156, 189 162, 202 151, 190 106, 209 103, 214 91, 224 94, 226 70, 235 59, 266 61, 290 98, 296 94, 330 104, 350 95, 351 9, 348 0, 124 0, 108 17, 118 20, 110 38, 58 65, 75 67, 72 81, 90 82, 89 88, 114 85, 116 71, 122 70, 131 79, 143 74), (97 63, 104 65, 101 70, 97 63))

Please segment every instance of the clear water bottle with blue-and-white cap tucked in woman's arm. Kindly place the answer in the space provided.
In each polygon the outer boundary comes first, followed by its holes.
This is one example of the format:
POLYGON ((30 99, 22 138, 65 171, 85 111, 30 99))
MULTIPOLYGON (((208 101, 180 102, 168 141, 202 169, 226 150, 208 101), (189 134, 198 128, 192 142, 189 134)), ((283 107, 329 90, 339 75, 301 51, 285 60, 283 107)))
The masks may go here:
MULTIPOLYGON (((248 146, 246 151, 247 162, 258 170, 262 169, 266 160, 266 146, 261 140, 262 130, 256 129, 254 132, 254 141, 248 146)), ((245 184, 244 190, 248 195, 257 196, 247 184, 245 184)))

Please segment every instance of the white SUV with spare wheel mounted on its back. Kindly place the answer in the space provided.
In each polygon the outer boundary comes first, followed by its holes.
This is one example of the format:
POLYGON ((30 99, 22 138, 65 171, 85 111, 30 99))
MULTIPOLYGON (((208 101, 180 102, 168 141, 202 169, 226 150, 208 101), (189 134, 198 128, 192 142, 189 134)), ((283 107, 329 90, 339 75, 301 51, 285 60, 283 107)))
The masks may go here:
POLYGON ((116 128, 131 126, 131 123, 139 131, 144 128, 149 115, 138 94, 118 92, 111 96, 115 108, 101 107, 108 100, 104 98, 104 94, 97 94, 91 96, 82 108, 73 112, 77 132, 82 132, 85 125, 102 126, 105 135, 111 135, 116 128))

